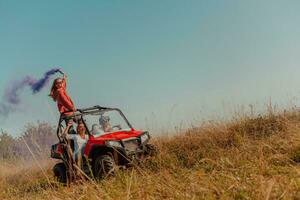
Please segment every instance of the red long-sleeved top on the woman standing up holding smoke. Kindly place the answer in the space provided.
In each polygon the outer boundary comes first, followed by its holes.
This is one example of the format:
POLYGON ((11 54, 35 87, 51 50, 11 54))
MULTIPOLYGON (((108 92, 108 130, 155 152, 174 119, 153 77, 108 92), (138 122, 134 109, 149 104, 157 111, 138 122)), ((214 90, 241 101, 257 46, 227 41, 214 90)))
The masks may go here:
POLYGON ((65 115, 71 115, 75 111, 75 106, 72 99, 67 94, 66 88, 67 88, 67 83, 66 83, 66 79, 64 78, 62 83, 62 88, 57 90, 57 98, 56 98, 57 107, 60 113, 70 112, 70 113, 65 113, 65 115))

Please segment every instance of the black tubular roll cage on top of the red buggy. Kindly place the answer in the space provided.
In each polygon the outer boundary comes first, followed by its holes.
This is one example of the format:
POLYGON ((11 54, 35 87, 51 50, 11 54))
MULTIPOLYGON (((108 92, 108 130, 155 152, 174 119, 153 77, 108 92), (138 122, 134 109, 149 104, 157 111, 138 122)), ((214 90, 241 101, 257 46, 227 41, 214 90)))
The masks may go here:
POLYGON ((60 135, 60 133, 62 132, 62 128, 63 128, 62 123, 64 121, 72 120, 72 119, 81 120, 83 122, 85 128, 86 128, 86 132, 89 135, 91 135, 90 130, 88 129, 83 116, 89 115, 89 114, 95 114, 95 113, 98 113, 98 112, 101 112, 101 111, 103 111, 103 112, 106 112, 106 111, 117 111, 122 116, 122 118, 125 120, 125 122, 127 123, 127 125, 131 129, 133 129, 132 125, 130 124, 130 122, 128 121, 128 119, 125 117, 125 115, 123 114, 123 112, 119 108, 108 108, 108 107, 102 107, 102 106, 97 105, 97 106, 93 106, 93 107, 89 107, 89 108, 77 109, 74 112, 74 114, 69 115, 69 116, 65 115, 68 112, 61 113, 61 115, 59 117, 57 131, 56 131, 56 134, 57 134, 57 137, 58 137, 59 141, 60 142, 64 142, 64 140, 62 139, 62 137, 60 135))

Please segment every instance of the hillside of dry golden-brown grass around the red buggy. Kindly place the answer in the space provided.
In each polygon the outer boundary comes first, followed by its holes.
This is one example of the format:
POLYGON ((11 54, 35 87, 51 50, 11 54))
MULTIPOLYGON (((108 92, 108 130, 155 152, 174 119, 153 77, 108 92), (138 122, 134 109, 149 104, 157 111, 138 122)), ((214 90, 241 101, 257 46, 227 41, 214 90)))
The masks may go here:
POLYGON ((53 181, 52 161, 1 162, 0 199, 300 199, 298 112, 210 122, 153 142, 161 152, 142 166, 71 187, 53 181))

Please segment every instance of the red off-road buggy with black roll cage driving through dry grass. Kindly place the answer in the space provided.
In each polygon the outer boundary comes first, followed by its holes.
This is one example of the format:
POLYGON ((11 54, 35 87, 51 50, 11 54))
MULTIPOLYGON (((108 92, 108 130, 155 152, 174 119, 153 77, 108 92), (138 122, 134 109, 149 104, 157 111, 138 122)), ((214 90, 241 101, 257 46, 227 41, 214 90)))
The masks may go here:
POLYGON ((74 179, 75 162, 71 156, 74 144, 63 134, 69 120, 81 120, 89 137, 80 167, 87 177, 103 179, 114 174, 116 166, 127 166, 157 154, 157 148, 149 144, 149 133, 135 130, 120 109, 101 106, 78 109, 71 116, 60 116, 57 128, 59 143, 51 147, 51 157, 62 160, 53 167, 59 182, 67 183, 74 179), (109 128, 103 127, 103 122, 109 123, 109 128))

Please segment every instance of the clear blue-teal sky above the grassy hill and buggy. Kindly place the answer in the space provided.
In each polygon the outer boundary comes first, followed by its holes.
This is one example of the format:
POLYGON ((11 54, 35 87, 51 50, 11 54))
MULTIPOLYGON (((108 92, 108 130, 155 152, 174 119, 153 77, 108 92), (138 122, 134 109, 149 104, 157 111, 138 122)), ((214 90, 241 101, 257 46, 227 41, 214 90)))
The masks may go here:
MULTIPOLYGON (((0 0, 0 94, 61 66, 77 107, 120 107, 140 128, 299 104, 299 10, 298 0, 0 0)), ((0 127, 55 123, 49 87, 25 91, 0 127)))

